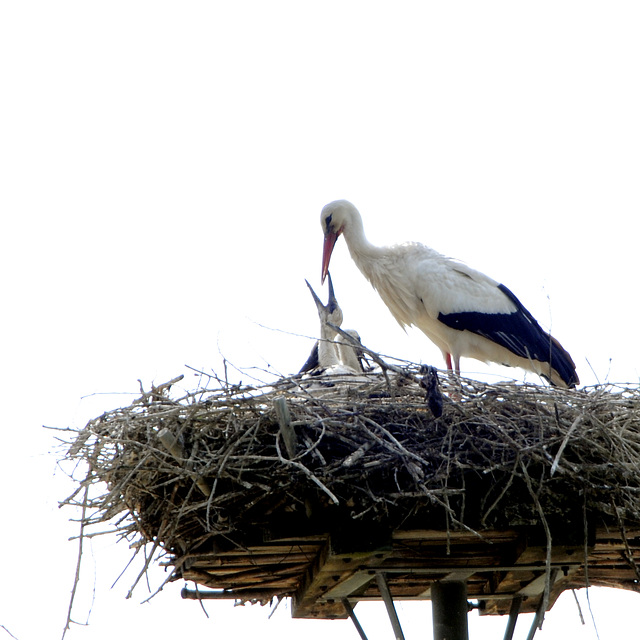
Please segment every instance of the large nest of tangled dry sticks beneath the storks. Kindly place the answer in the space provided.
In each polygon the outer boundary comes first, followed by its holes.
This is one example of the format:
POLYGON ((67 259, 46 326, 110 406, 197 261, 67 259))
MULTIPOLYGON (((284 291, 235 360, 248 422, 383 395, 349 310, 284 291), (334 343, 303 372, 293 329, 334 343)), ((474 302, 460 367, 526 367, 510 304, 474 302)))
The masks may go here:
POLYGON ((640 524, 638 388, 443 379, 436 417, 424 380, 408 366, 153 388, 77 432, 67 457, 88 473, 65 503, 84 506, 85 526, 153 542, 171 579, 194 554, 345 528, 530 527, 580 544, 587 526, 640 524))

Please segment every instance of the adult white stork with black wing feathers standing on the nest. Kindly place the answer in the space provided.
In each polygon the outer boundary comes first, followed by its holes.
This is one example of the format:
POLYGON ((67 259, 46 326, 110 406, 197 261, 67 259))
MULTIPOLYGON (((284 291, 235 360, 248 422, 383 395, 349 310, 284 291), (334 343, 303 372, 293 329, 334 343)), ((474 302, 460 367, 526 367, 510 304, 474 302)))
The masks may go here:
POLYGON ((322 209, 322 281, 340 235, 363 275, 401 327, 414 325, 442 351, 451 371, 475 358, 532 371, 559 387, 578 384, 571 356, 503 284, 417 242, 371 244, 347 200, 322 209))

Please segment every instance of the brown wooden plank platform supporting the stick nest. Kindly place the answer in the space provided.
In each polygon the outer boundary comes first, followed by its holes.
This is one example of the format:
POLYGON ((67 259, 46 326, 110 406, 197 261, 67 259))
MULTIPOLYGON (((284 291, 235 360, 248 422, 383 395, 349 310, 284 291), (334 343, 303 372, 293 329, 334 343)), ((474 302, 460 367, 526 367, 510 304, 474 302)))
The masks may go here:
POLYGON ((373 548, 317 535, 190 556, 182 577, 214 589, 208 597, 291 596, 294 617, 322 619, 347 617, 344 599, 351 606, 380 600, 379 573, 394 600, 430 599, 435 581, 464 581, 484 615, 509 613, 514 597, 522 598, 523 613, 536 611, 547 581, 547 608, 562 591, 587 585, 640 591, 640 530, 623 536, 599 529, 587 548, 554 544, 550 560, 547 567, 546 542, 523 531, 412 530, 396 531, 373 548))

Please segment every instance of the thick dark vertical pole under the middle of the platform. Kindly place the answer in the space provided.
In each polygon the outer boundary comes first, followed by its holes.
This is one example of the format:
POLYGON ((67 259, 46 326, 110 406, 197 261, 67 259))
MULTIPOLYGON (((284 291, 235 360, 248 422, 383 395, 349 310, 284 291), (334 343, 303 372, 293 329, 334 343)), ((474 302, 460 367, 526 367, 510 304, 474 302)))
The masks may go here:
POLYGON ((459 581, 431 585, 433 640, 469 640, 467 584, 459 581))

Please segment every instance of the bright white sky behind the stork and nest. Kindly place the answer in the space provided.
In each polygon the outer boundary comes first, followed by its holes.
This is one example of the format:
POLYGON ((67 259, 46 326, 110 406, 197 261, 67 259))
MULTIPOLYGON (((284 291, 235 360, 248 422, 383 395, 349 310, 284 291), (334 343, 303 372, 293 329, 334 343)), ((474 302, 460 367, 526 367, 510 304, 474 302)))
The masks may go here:
MULTIPOLYGON (((584 383, 637 383, 638 33, 633 1, 2 3, 0 624, 59 638, 73 583, 71 485, 42 425, 128 404, 138 378, 190 388, 184 365, 220 371, 221 353, 296 371, 330 200, 374 242, 420 240, 504 282, 584 383)), ((442 366, 343 241, 332 275, 365 344, 442 366)), ((206 619, 181 585, 125 600, 136 571, 110 587, 128 557, 107 538, 86 550, 76 620, 95 601, 70 640, 357 637, 284 605, 206 619)), ((590 595, 602 640, 637 626, 637 594, 590 595)), ((565 594, 537 637, 595 638, 580 597, 586 626, 565 594)), ((356 613, 391 637, 382 605, 356 613)), ((400 616, 408 640, 431 637, 427 603, 400 616)), ((472 615, 471 637, 505 624, 472 615)))

